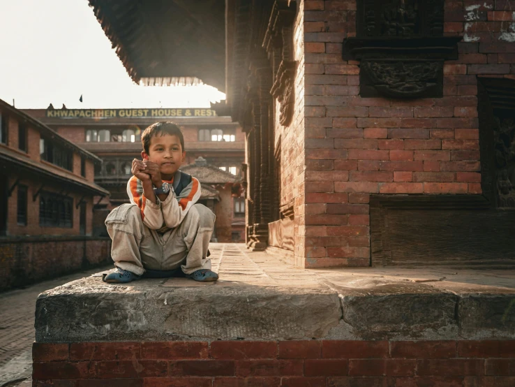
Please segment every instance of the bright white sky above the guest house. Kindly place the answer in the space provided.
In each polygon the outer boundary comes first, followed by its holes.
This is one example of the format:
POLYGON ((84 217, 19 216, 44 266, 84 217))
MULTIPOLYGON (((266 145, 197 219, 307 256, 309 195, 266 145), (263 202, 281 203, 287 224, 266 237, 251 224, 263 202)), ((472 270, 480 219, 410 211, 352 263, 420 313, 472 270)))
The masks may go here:
POLYGON ((0 0, 0 15, 0 98, 17 108, 209 108, 225 98, 207 85, 135 85, 87 0, 0 0))

